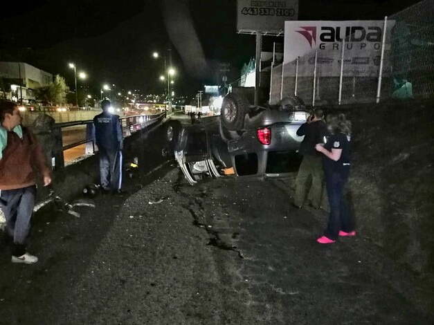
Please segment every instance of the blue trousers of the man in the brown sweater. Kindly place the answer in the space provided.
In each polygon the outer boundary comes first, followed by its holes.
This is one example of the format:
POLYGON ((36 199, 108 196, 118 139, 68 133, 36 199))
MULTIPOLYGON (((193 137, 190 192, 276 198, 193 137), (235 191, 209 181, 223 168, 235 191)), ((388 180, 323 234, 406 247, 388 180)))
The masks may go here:
POLYGON ((26 254, 30 243, 30 219, 35 207, 36 185, 0 191, 1 210, 6 217, 6 232, 13 239, 12 255, 26 254))

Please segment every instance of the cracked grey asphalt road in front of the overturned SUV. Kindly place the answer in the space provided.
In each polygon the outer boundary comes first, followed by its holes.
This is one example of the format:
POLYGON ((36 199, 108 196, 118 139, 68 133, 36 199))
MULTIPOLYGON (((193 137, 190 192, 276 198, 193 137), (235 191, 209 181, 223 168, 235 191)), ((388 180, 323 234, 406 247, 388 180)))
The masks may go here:
POLYGON ((0 248, 0 324, 433 324, 433 292, 363 234, 316 243, 327 214, 289 205, 292 178, 190 186, 160 131, 127 194, 40 210, 38 263, 0 248))

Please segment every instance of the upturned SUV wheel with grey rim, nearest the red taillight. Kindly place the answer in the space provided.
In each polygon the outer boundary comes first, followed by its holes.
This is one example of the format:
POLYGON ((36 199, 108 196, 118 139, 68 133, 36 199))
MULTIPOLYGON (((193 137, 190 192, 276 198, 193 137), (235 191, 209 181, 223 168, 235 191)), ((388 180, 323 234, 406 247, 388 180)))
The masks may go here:
POLYGON ((221 104, 221 122, 230 131, 240 130, 244 127, 244 116, 247 110, 246 97, 239 93, 228 93, 221 104))

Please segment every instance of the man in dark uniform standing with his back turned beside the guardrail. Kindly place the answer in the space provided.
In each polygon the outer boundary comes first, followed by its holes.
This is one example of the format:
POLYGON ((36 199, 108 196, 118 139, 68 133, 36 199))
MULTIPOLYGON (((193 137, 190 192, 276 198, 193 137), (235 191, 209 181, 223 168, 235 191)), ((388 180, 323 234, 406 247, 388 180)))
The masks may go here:
POLYGON ((103 192, 118 194, 122 185, 122 124, 119 115, 109 111, 109 100, 102 100, 101 109, 102 113, 93 118, 100 154, 101 187, 103 192))

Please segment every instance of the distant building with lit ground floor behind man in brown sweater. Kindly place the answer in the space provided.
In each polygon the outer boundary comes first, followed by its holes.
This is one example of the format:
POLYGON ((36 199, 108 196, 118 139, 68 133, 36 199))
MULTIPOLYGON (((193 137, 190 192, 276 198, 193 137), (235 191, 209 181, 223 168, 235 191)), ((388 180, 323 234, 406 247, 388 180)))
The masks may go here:
POLYGON ((0 62, 0 97, 27 104, 35 89, 53 82, 53 75, 25 62, 0 62))

